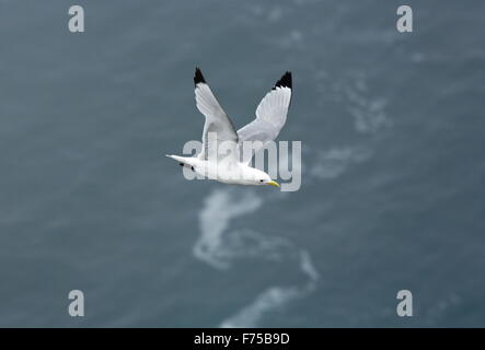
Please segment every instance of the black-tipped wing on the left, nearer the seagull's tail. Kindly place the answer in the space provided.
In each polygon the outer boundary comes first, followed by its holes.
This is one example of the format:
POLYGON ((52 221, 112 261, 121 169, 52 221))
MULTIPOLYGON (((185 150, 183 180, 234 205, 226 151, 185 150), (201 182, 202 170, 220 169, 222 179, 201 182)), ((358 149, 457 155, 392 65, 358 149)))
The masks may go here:
POLYGON ((235 162, 238 160, 238 133, 231 119, 220 106, 198 68, 195 70, 194 83, 197 108, 206 117, 203 132, 203 151, 198 158, 207 160, 209 154, 217 154, 218 160, 223 156, 235 162), (230 152, 231 154, 218 154, 217 147, 220 147, 222 142, 224 143, 224 153, 230 152))

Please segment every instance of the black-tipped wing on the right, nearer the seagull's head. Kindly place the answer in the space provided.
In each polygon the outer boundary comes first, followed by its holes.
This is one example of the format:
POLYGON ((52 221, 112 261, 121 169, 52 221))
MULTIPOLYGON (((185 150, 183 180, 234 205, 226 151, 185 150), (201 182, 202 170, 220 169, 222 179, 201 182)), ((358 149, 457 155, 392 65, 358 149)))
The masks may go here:
POLYGON ((273 141, 286 122, 291 102, 291 72, 286 72, 278 80, 256 108, 256 119, 238 130, 238 152, 240 161, 251 162, 254 153, 267 142, 273 141), (253 152, 243 152, 244 141, 259 141, 253 145, 253 152))

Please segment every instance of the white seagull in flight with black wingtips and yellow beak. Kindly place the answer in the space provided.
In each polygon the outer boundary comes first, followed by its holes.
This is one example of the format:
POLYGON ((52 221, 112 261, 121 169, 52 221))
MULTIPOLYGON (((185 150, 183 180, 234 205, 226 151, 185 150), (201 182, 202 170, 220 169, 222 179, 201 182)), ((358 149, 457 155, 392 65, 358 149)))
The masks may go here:
POLYGON ((259 149, 276 139, 286 122, 291 102, 291 72, 287 71, 263 97, 256 108, 256 118, 238 131, 198 68, 195 70, 194 84, 197 108, 206 119, 201 151, 196 156, 166 156, 220 183, 280 187, 267 173, 250 166, 250 163, 259 149), (252 142, 251 152, 243 152, 244 142, 252 142), (220 152, 217 148, 222 145, 224 151, 220 152))

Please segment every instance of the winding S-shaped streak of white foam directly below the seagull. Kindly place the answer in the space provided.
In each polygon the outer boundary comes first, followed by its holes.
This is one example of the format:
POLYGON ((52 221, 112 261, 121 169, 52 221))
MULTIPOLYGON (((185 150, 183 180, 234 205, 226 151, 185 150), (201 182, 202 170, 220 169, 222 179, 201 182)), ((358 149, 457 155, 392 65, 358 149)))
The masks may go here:
POLYGON ((263 198, 251 189, 217 189, 205 200, 199 213, 200 237, 194 246, 194 256, 216 269, 229 269, 236 259, 257 258, 273 261, 297 260, 308 278, 303 285, 269 287, 253 302, 224 319, 221 327, 256 327, 269 312, 313 291, 319 273, 310 255, 287 240, 266 236, 251 228, 230 231, 232 219, 256 211, 263 198))

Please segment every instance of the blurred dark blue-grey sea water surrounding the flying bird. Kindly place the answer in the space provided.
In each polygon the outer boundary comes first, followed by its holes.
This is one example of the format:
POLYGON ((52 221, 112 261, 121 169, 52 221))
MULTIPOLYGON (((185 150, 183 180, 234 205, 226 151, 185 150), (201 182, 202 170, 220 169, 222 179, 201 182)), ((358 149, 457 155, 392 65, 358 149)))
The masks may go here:
POLYGON ((0 1, 0 326, 485 326, 482 1, 407 1, 407 34, 399 1, 76 4, 82 34, 0 1), (299 191, 163 156, 195 66, 236 127, 292 71, 299 191))

